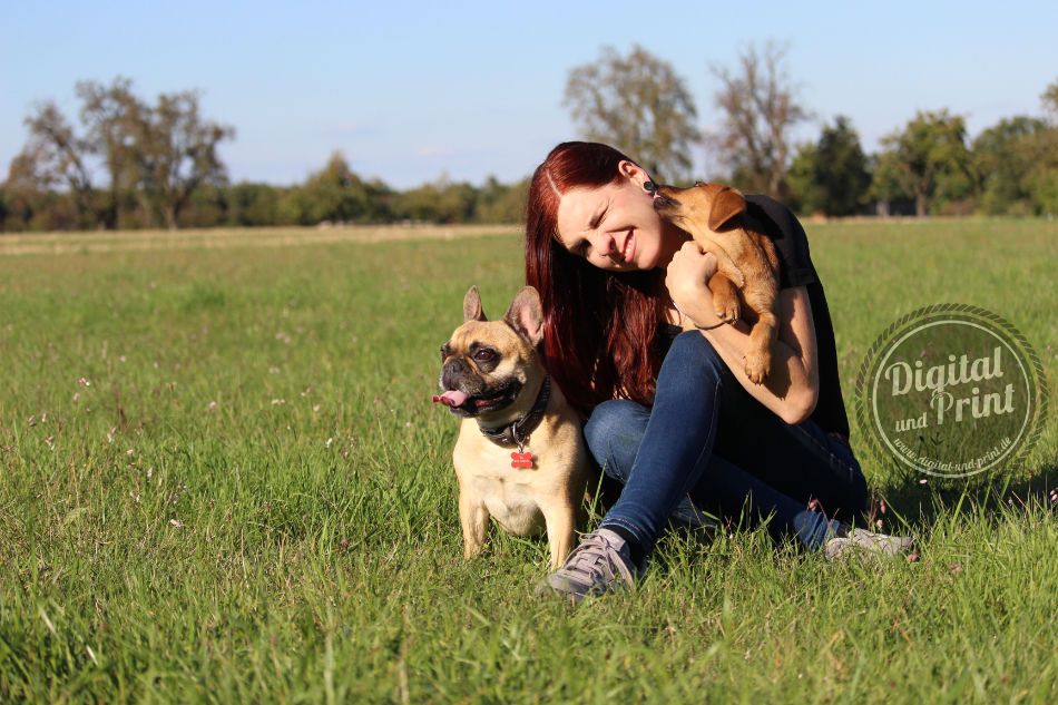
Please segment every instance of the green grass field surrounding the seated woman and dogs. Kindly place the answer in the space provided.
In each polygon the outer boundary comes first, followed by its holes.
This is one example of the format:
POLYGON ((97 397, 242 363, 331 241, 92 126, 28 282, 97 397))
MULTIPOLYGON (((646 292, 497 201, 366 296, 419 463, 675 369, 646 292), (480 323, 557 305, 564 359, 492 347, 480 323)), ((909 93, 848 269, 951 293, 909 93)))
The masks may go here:
MULTIPOLYGON (((288 235, 0 237, 0 701, 1058 701, 1058 413, 1007 488, 864 462, 918 564, 670 532, 636 594, 571 610, 532 597, 543 540, 462 561, 430 403, 468 285, 493 315, 520 286, 517 235, 288 235)), ((1058 224, 809 236, 850 417, 875 336, 941 302, 1010 321, 1058 399, 1058 224)))

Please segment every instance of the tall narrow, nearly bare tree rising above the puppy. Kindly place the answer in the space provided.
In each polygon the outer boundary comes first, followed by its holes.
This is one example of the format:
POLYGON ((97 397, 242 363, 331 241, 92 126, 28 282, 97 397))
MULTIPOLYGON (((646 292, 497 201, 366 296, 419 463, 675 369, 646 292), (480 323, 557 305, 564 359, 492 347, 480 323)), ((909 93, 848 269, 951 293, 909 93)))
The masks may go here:
POLYGON ((721 160, 739 187, 785 197, 791 130, 807 119, 783 62, 786 48, 768 42, 763 52, 751 45, 735 71, 713 67, 722 86, 716 107, 723 124, 715 138, 721 160))

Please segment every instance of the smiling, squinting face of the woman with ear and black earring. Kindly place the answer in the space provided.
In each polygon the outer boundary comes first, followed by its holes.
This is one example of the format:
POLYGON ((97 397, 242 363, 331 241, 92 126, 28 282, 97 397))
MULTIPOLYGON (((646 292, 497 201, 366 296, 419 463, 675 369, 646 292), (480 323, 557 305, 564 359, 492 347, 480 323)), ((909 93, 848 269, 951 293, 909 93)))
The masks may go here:
POLYGON ((646 172, 631 161, 621 161, 618 170, 616 182, 562 194, 558 204, 562 246, 611 272, 667 265, 682 244, 678 231, 674 233, 654 210, 654 195, 643 188, 649 178, 646 172))

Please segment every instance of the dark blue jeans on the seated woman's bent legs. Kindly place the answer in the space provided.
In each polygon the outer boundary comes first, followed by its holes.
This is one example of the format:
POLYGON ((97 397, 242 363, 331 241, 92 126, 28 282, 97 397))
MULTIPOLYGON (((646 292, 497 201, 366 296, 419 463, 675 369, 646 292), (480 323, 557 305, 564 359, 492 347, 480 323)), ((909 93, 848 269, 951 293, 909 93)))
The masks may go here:
POLYGON ((852 450, 811 419, 791 425, 753 399, 694 331, 665 356, 653 408, 603 402, 585 438, 607 477, 624 484, 601 526, 630 532, 644 554, 669 519, 701 526, 702 510, 751 526, 772 517, 773 536, 817 549, 837 519, 866 509, 852 450))

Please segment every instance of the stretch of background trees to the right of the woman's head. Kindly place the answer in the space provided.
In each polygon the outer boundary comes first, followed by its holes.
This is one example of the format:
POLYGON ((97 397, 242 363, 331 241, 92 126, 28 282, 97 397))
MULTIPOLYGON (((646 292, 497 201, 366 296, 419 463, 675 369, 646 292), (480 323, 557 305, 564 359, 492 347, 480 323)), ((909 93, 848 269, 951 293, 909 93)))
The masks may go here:
MULTIPOLYGON (((794 144, 813 119, 786 67, 786 48, 750 46, 714 66, 718 126, 697 127, 697 107, 670 63, 635 46, 604 48, 570 70, 565 102, 581 133, 634 155, 663 180, 688 182, 695 148, 717 164, 707 180, 784 200, 802 214, 1058 214, 1058 81, 1039 116, 1000 120, 972 140, 966 118, 920 110, 866 154, 852 120, 837 116, 815 140, 794 144)), ((701 176, 701 175, 697 175, 701 176)))

